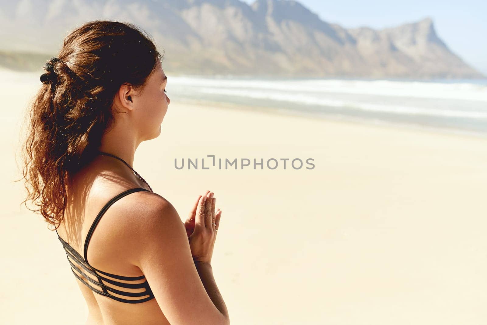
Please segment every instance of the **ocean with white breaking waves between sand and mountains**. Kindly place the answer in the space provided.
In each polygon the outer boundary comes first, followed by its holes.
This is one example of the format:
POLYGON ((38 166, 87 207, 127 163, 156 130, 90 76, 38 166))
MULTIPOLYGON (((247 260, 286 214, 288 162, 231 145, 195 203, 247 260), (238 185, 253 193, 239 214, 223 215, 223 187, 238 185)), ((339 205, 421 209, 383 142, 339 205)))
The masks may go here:
POLYGON ((168 78, 171 100, 487 136, 487 80, 168 78))

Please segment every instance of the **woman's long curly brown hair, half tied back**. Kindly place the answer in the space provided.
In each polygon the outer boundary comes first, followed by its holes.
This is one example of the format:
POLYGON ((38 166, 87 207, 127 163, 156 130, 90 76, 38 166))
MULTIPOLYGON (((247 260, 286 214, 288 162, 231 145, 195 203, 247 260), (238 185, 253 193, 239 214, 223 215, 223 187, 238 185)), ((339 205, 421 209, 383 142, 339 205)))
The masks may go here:
POLYGON ((27 209, 40 210, 54 229, 64 218, 70 176, 94 159, 119 113, 112 112, 116 92, 123 84, 143 88, 163 54, 131 23, 94 20, 64 38, 57 58, 44 67, 47 77, 28 107, 27 198, 20 203, 34 201, 40 209, 27 209))

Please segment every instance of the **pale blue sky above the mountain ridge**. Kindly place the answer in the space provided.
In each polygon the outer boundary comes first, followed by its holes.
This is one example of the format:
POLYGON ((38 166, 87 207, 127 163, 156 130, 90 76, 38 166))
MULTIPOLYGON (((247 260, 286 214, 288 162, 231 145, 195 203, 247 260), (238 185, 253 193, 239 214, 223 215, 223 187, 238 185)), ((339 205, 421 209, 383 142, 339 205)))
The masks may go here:
MULTIPOLYGON (((254 0, 244 0, 252 3, 254 0)), ((487 75, 487 0, 298 0, 322 20, 375 29, 433 19, 450 50, 487 75)))

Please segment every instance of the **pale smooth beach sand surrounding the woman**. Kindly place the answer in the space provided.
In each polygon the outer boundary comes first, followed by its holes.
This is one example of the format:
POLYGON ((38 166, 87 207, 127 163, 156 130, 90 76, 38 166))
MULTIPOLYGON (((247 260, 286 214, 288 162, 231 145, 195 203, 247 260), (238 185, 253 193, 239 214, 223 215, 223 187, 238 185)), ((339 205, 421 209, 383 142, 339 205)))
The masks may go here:
MULTIPOLYGON (((19 112, 39 84, 0 79, 2 323, 84 324, 56 234, 19 207, 23 184, 10 183, 19 112)), ((486 139, 172 98, 134 168, 183 220, 198 194, 215 192, 212 264, 232 324, 465 325, 487 322, 486 162, 486 139), (316 167, 174 168, 208 154, 316 167)))

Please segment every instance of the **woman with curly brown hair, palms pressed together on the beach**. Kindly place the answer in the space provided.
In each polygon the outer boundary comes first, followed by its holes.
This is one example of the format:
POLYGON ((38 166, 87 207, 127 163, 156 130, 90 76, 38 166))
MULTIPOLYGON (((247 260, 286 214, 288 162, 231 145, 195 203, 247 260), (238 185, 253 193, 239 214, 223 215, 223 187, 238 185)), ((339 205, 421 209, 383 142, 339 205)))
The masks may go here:
POLYGON ((56 229, 87 324, 229 324, 211 268, 222 215, 213 192, 198 197, 183 224, 132 169, 170 103, 161 62, 136 26, 91 21, 46 64, 33 102, 26 200, 40 197, 56 229))

